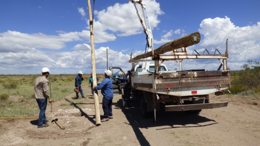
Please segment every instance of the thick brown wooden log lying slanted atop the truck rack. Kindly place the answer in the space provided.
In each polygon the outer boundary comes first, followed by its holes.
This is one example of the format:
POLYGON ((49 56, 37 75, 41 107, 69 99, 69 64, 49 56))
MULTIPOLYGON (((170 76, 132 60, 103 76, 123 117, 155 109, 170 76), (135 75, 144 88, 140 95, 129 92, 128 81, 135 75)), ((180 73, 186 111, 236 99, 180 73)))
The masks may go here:
MULTIPOLYGON (((200 42, 200 33, 195 32, 186 36, 183 36, 179 39, 173 40, 169 43, 166 43, 156 49, 154 49, 154 55, 163 54, 169 51, 173 51, 182 47, 188 47, 192 46, 194 44, 198 44, 200 42)), ((151 57, 153 55, 153 52, 146 52, 140 55, 137 55, 136 57, 132 58, 132 60, 140 60, 143 58, 151 57)), ((129 62, 132 62, 132 60, 129 60, 129 62)))

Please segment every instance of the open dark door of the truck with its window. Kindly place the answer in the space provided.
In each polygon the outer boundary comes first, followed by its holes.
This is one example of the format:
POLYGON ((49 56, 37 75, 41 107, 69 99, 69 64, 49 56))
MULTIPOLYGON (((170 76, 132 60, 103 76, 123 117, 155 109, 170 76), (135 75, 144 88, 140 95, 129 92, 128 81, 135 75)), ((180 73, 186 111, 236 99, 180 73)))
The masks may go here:
POLYGON ((122 94, 120 83, 123 81, 123 76, 126 74, 119 67, 110 67, 109 70, 112 72, 112 89, 114 94, 122 94))

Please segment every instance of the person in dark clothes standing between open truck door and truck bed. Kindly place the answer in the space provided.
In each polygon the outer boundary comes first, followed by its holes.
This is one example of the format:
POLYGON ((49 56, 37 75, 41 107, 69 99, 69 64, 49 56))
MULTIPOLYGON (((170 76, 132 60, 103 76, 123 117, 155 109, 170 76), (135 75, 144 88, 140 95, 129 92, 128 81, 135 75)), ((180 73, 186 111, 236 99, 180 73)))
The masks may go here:
POLYGON ((127 83, 126 86, 124 86, 124 105, 125 107, 130 107, 130 91, 131 91, 131 81, 130 81, 130 75, 132 74, 131 70, 128 70, 126 75, 123 76, 123 83, 127 83))

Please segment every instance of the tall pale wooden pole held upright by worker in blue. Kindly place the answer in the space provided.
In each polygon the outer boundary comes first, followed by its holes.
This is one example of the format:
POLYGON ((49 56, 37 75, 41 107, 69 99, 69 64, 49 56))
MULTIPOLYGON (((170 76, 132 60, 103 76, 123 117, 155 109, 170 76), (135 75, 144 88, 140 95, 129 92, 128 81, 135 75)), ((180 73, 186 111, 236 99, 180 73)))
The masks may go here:
MULTIPOLYGON (((91 43, 91 63, 92 63, 92 77, 93 77, 93 87, 97 86, 97 74, 96 74, 96 59, 95 59, 95 48, 94 48, 94 33, 93 33, 93 18, 91 12, 90 0, 88 0, 89 7, 89 27, 90 27, 90 43, 91 43)), ((99 102, 98 102, 98 91, 94 90, 94 104, 95 104, 95 115, 96 115, 96 125, 101 125, 100 122, 100 112, 99 112, 99 102)))

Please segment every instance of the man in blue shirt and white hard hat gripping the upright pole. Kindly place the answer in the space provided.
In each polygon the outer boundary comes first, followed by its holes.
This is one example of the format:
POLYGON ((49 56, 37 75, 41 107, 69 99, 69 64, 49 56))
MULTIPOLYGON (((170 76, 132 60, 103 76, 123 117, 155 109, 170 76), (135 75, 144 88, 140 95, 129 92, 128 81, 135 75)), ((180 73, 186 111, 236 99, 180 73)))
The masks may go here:
POLYGON ((98 86, 94 86, 93 90, 101 90, 101 94, 103 95, 102 99, 102 108, 104 111, 104 118, 101 122, 106 122, 109 119, 113 119, 112 114, 112 99, 114 97, 113 89, 112 89, 112 80, 110 79, 112 72, 110 70, 105 71, 105 79, 98 84, 98 86))

